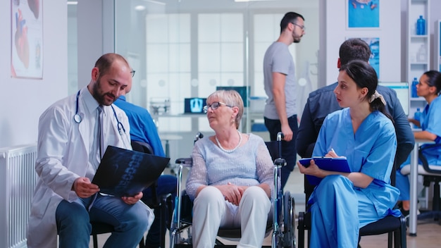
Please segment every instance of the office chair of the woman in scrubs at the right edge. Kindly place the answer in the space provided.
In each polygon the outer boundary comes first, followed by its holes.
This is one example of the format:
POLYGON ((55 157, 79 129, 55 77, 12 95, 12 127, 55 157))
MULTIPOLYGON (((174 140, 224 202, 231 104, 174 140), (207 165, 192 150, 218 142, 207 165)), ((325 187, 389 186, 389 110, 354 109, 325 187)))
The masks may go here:
MULTIPOLYGON (((423 175, 423 185, 430 187, 430 183, 433 182, 433 202, 431 211, 421 211, 418 214, 418 220, 424 218, 433 218, 435 221, 439 221, 441 225, 441 206, 440 206, 440 182, 441 182, 441 166, 429 165, 424 156, 423 151, 434 147, 441 147, 441 144, 427 144, 421 146, 418 149, 418 159, 421 161, 422 166, 418 166, 418 175, 423 175)), ((408 175, 410 173, 410 165, 403 166, 401 173, 408 175)))

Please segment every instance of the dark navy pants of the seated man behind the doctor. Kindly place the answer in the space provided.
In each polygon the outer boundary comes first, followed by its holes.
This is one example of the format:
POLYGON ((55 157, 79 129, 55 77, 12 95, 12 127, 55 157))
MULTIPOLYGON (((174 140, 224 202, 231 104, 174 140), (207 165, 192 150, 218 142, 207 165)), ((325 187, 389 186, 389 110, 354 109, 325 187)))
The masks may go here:
MULTIPOLYGON (((163 194, 171 194, 173 201, 176 197, 176 177, 173 175, 161 175, 158 178, 158 187, 156 187, 156 195, 159 197, 163 194)), ((143 191, 144 196, 142 197, 142 202, 151 202, 152 192, 151 187, 148 187, 143 191)), ((172 204, 175 206, 175 204, 172 204)), ((173 209, 171 209, 173 211, 173 209)), ((149 233, 147 233, 145 245, 147 248, 149 247, 159 247, 161 244, 161 209, 154 209, 155 219, 151 224, 151 228, 149 233)), ((163 232, 166 232, 166 228, 163 226, 163 232)))

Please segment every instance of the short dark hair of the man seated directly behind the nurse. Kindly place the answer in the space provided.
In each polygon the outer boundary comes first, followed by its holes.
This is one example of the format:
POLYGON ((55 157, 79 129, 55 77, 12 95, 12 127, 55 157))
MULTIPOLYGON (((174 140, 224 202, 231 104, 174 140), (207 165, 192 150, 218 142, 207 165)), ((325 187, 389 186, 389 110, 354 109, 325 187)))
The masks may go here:
POLYGON ((370 57, 371 49, 363 39, 347 39, 340 46, 340 66, 354 60, 368 62, 370 57))

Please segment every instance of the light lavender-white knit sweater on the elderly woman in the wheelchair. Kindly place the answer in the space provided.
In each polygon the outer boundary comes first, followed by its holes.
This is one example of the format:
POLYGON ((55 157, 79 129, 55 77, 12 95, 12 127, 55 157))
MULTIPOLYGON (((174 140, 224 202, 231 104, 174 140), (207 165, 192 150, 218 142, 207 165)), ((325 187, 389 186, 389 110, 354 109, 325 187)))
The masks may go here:
POLYGON ((222 151, 209 138, 194 144, 193 166, 186 192, 194 200, 201 185, 256 186, 266 183, 274 190, 273 161, 262 138, 249 134, 248 141, 231 153, 222 151))

